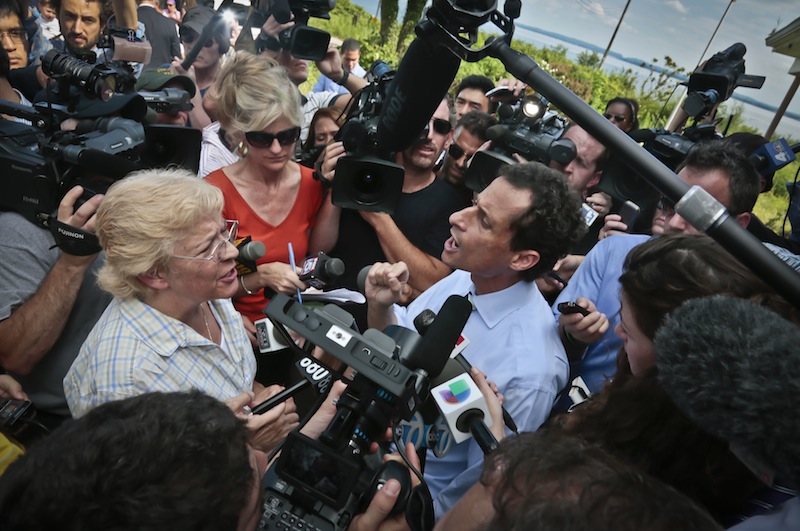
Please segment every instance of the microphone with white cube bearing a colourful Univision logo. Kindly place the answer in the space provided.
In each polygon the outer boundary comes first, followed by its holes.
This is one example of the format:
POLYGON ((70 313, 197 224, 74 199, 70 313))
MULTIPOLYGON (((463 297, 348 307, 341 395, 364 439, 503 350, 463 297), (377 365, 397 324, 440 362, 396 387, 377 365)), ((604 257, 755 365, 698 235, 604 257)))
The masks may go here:
POLYGON ((489 431, 493 424, 489 406, 460 363, 448 360, 431 385, 431 397, 453 434, 453 442, 459 444, 474 437, 484 454, 497 448, 497 439, 489 431))

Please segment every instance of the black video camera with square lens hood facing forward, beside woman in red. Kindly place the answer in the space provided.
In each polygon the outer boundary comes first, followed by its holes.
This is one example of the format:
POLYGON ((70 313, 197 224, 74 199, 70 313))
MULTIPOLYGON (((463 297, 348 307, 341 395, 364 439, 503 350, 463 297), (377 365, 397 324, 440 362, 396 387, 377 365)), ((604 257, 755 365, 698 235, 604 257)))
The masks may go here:
POLYGON ((342 208, 392 214, 403 191, 403 167, 378 145, 378 116, 394 71, 383 61, 372 64, 369 84, 354 96, 347 121, 337 133, 347 155, 336 163, 331 199, 342 208))

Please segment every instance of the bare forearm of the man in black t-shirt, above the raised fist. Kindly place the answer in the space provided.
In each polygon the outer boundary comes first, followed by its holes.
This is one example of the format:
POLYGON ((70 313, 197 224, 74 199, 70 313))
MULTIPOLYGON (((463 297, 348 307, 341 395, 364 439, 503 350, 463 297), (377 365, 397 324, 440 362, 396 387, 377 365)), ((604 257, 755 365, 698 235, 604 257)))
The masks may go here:
POLYGON ((388 214, 361 212, 361 216, 375 229, 386 258, 408 264, 408 284, 414 290, 423 292, 453 272, 444 262, 411 243, 388 214))

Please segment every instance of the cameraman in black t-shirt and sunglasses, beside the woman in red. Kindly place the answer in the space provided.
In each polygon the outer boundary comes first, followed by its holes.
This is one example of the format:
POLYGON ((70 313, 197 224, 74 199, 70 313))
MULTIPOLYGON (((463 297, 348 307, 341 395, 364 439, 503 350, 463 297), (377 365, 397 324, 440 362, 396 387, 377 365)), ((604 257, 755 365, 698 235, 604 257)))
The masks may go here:
MULTIPOLYGON (((414 112, 414 109, 408 110, 414 112)), ((341 285, 358 289, 356 277, 364 266, 389 260, 408 263, 411 281, 405 296, 422 292, 452 271, 441 256, 448 238, 447 219, 464 206, 463 200, 448 183, 437 179, 434 169, 453 136, 453 113, 445 97, 431 116, 427 128, 414 143, 398 153, 396 162, 403 166, 403 193, 395 213, 364 212, 340 209, 338 225, 330 227, 338 235, 331 256, 345 263, 341 285)), ((345 155, 341 142, 325 149, 322 173, 334 178, 336 161, 345 155)), ((330 195, 326 199, 330 201, 330 195)), ((363 308, 353 309, 359 327, 366 328, 363 308)))

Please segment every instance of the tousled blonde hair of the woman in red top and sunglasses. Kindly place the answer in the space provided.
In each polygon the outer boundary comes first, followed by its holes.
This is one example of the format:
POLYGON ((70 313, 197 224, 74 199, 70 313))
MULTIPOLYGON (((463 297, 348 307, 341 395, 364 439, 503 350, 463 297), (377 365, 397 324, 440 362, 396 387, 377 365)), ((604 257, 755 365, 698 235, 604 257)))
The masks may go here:
POLYGON ((296 126, 303 121, 300 92, 286 69, 272 59, 237 52, 220 70, 214 88, 209 97, 233 143, 241 141, 244 133, 262 131, 281 117, 296 126))

